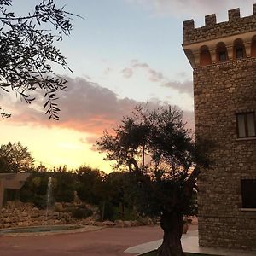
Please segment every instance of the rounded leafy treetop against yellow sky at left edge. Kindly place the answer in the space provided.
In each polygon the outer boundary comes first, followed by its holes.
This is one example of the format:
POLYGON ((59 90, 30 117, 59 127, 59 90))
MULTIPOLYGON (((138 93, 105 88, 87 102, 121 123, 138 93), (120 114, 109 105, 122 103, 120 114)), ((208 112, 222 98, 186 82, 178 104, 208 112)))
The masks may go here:
POLYGON ((28 172, 33 165, 31 153, 18 143, 0 147, 0 172, 28 172))

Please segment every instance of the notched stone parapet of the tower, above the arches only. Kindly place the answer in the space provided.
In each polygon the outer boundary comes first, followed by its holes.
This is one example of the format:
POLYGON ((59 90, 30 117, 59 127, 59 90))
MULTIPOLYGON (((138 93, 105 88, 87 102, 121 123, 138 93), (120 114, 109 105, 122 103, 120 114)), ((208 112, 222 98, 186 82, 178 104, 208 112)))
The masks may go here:
POLYGON ((241 18, 239 8, 230 9, 228 14, 229 20, 220 23, 217 23, 216 15, 206 15, 205 26, 198 28, 195 28, 194 20, 183 21, 183 44, 195 44, 255 30, 256 3, 253 4, 253 15, 251 16, 241 18))

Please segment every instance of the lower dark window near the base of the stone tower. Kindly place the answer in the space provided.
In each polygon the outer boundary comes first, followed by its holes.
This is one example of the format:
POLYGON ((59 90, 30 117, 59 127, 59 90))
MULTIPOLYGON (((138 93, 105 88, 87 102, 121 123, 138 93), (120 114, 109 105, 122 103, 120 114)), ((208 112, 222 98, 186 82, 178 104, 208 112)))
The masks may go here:
POLYGON ((256 179, 241 180, 241 201, 243 208, 256 208, 256 179))

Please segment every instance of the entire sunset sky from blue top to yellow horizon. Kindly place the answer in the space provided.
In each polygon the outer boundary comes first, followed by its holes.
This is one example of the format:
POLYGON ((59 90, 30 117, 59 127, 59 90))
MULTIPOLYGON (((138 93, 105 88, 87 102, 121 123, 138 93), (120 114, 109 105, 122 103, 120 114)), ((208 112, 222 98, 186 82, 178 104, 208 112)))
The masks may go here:
MULTIPOLYGON (((38 0, 13 0, 17 14, 32 11, 38 0)), ((183 54, 183 20, 204 26, 204 16, 227 20, 228 9, 253 15, 255 0, 56 0, 72 13, 70 37, 58 46, 73 73, 60 93, 60 121, 49 121, 40 99, 32 105, 1 92, 1 107, 12 113, 1 120, 0 143, 20 141, 35 164, 98 167, 110 172, 94 146, 138 103, 172 104, 193 128, 192 68, 183 54)))

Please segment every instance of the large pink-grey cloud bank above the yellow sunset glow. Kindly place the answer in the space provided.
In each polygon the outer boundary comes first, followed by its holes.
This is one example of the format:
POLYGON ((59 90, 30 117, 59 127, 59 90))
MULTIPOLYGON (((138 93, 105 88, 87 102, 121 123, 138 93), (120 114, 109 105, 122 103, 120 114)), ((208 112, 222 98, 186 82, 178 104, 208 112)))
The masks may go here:
MULTIPOLYGON (((95 142, 96 137, 102 136, 103 131, 116 126, 123 116, 131 114, 132 109, 143 102, 129 98, 119 98, 112 90, 86 79, 71 79, 67 84, 67 91, 59 93, 60 121, 49 121, 44 115, 44 101, 27 105, 25 102, 12 102, 6 107, 13 106, 13 116, 8 121, 14 125, 38 125, 43 127, 61 127, 86 133, 84 143, 95 142), (93 142, 94 141, 94 142, 93 142)), ((8 99, 6 97, 6 99, 8 99)), ((148 102, 151 108, 165 105, 165 102, 148 102)), ((193 128, 194 114, 185 112, 189 128, 193 128)))

